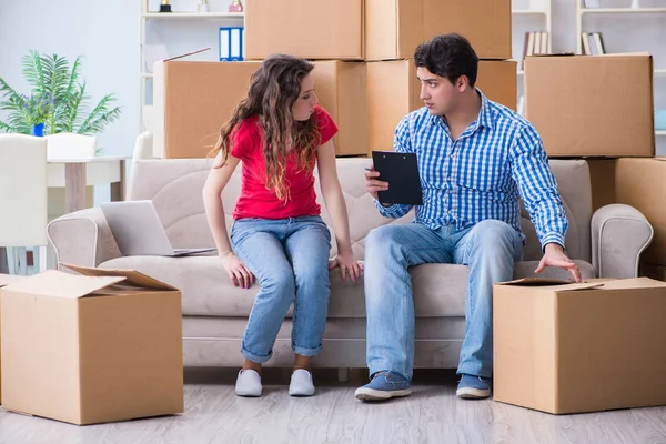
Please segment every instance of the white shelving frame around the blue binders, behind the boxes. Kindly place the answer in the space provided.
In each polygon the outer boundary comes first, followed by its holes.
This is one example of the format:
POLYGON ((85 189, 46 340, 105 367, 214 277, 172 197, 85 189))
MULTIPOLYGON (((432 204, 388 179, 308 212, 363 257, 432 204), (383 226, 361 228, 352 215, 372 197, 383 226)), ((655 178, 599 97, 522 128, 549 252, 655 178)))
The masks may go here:
MULTIPOLYGON (((245 3, 243 1, 243 3, 245 3)), ((243 12, 224 12, 231 3, 231 0, 209 0, 209 12, 194 12, 196 10, 196 0, 171 0, 174 9, 173 12, 158 12, 160 1, 159 0, 141 0, 139 2, 139 128, 140 131, 145 129, 145 112, 147 112, 147 94, 149 85, 152 84, 153 74, 148 72, 145 63, 145 48, 148 44, 148 36, 150 32, 149 23, 160 23, 162 27, 193 27, 199 28, 201 23, 208 23, 210 27, 211 22, 219 22, 220 26, 243 26, 245 14, 243 12), (186 8, 192 11, 178 11, 175 8, 186 8), (222 10, 220 10, 222 9, 222 10), (171 23, 171 24, 170 24, 171 23), (182 23, 182 24, 181 24, 182 23), (186 23, 186 24, 185 24, 186 23)), ((218 52, 219 42, 215 39, 215 34, 212 34, 210 41, 206 40, 205 47, 211 47, 211 51, 218 52)), ((201 47, 190 48, 190 50, 196 50, 201 47)), ((169 57, 173 57, 180 53, 169 53, 169 57)), ((167 56, 167 54, 164 54, 167 56)))

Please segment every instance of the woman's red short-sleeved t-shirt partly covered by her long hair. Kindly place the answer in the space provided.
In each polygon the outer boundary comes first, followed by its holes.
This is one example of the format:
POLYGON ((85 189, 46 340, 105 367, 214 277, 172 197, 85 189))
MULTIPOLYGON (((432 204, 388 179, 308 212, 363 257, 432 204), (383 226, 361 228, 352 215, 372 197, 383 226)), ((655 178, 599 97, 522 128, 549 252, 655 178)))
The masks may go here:
MULTIPOLYGON (((319 123, 319 144, 322 145, 335 135, 337 127, 331 115, 320 105, 315 107, 314 114, 319 123)), ((286 219, 319 215, 320 205, 316 203, 314 175, 307 170, 299 171, 294 153, 287 157, 284 171, 291 199, 286 202, 282 201, 278 199, 274 191, 266 188, 262 142, 263 132, 258 115, 245 119, 233 135, 231 155, 240 159, 243 165, 241 193, 233 210, 233 219, 286 219)), ((312 168, 314 168, 315 159, 312 160, 312 168)))

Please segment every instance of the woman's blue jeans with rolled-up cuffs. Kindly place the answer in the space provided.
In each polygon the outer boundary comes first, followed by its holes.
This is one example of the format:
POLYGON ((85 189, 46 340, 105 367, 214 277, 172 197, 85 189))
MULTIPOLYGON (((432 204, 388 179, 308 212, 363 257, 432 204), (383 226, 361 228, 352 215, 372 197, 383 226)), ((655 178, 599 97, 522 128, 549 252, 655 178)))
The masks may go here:
POLYGON ((331 295, 326 224, 320 216, 240 219, 231 230, 231 244, 260 285, 243 335, 243 356, 259 363, 271 359, 292 303, 292 349, 302 356, 317 354, 331 295))

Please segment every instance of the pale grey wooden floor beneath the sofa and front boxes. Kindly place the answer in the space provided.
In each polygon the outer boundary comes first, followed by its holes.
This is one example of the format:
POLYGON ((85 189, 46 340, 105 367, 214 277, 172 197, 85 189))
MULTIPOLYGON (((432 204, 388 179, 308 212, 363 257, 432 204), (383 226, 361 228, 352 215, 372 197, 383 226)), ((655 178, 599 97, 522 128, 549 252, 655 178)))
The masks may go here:
POLYGON ((185 372, 185 413, 75 426, 0 411, 0 443, 666 443, 666 408, 554 416, 454 395, 453 372, 417 372, 411 397, 354 400, 366 374, 315 371, 317 395, 292 398, 289 371, 266 370, 264 396, 234 395, 233 370, 185 372))

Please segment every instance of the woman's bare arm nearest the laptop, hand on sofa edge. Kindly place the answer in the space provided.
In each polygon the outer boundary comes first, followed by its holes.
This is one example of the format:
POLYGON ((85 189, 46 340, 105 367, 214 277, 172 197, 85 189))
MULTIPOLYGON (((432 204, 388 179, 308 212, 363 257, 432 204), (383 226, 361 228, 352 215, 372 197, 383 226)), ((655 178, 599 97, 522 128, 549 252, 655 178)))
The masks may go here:
MULTIPOLYGON (((215 159, 215 164, 221 162, 220 155, 215 159)), ((205 218, 208 220, 218 255, 224 261, 224 269, 229 274, 229 279, 236 286, 244 289, 252 285, 254 276, 235 256, 229 242, 229 233, 226 232, 226 218, 224 215, 224 205, 222 204, 222 191, 233 171, 238 167, 240 160, 229 155, 226 163, 220 168, 212 168, 205 184, 203 185, 203 205, 205 208, 205 218)))

